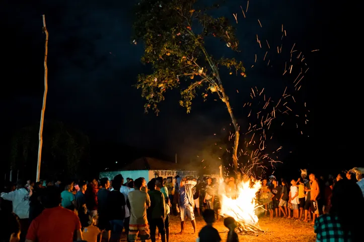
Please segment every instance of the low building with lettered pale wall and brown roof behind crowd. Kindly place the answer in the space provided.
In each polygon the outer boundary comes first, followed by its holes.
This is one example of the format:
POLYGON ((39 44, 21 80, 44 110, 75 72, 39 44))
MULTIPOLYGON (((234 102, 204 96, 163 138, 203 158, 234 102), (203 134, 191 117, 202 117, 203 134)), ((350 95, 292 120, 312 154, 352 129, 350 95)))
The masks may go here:
POLYGON ((196 170, 193 171, 185 168, 186 166, 183 164, 162 161, 156 158, 141 157, 117 171, 100 172, 100 178, 107 177, 111 180, 118 174, 121 174, 124 179, 129 177, 135 180, 136 178, 144 177, 147 181, 159 176, 163 178, 167 178, 169 176, 175 177, 176 175, 179 175, 180 177, 197 177, 196 170))

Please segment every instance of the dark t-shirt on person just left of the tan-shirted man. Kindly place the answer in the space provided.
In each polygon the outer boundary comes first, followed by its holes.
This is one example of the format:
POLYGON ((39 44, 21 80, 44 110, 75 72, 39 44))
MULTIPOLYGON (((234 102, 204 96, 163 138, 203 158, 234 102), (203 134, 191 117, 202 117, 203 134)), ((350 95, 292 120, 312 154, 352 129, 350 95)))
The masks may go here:
POLYGON ((120 190, 113 190, 109 192, 107 197, 107 206, 109 220, 123 220, 125 218, 125 198, 120 190))

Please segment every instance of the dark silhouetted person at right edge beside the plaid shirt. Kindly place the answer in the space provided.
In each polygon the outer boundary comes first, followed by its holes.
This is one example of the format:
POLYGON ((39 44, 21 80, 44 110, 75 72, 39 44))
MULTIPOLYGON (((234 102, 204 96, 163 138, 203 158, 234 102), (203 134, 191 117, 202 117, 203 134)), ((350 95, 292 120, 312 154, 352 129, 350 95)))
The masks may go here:
POLYGON ((350 231, 352 241, 362 241, 362 223, 348 212, 349 208, 355 208, 355 217, 362 220, 364 207, 358 206, 358 204, 364 204, 360 187, 347 179, 336 182, 332 189, 330 214, 339 218, 341 227, 346 234, 350 231))

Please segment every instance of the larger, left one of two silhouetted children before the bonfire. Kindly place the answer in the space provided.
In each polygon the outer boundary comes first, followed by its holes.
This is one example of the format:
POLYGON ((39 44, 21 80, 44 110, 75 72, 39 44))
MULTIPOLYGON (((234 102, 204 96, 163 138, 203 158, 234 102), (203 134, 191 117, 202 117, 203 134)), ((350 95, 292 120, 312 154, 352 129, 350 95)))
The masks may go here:
POLYGON ((216 228, 212 227, 212 223, 215 221, 215 212, 212 209, 205 209, 202 212, 203 220, 206 222, 200 232, 198 233, 197 242, 220 242, 221 237, 216 228))

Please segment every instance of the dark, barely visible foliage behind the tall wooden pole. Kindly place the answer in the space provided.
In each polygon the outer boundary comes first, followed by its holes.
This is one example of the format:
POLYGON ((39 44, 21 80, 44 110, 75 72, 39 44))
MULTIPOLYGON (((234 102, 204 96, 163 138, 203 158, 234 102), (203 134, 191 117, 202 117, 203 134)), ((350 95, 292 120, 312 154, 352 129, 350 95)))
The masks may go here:
MULTIPOLYGON (((14 169, 35 175, 39 146, 39 124, 19 130, 12 138, 14 169)), ((89 138, 60 122, 44 122, 41 177, 71 177, 89 159, 89 138)))

